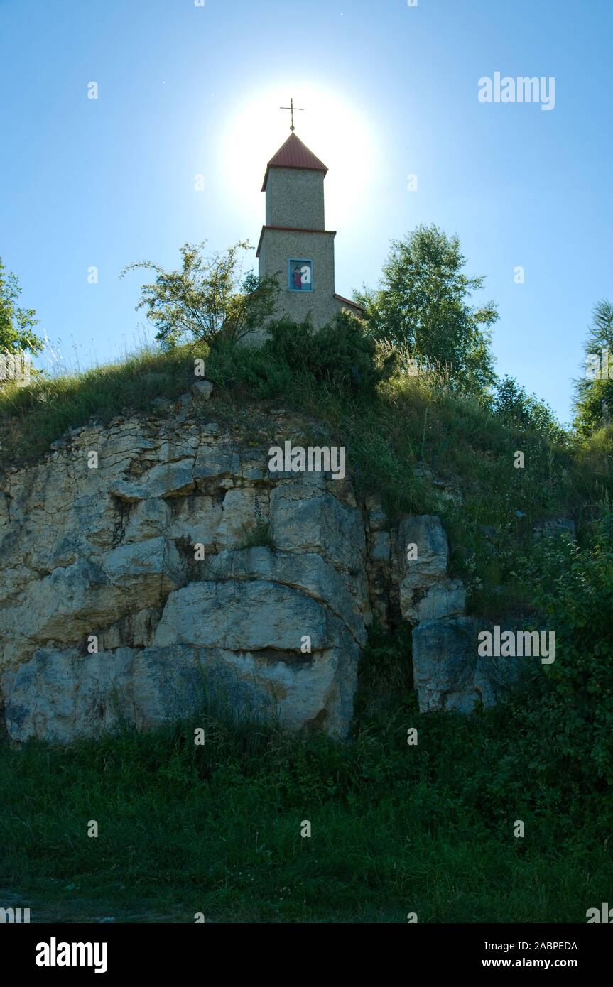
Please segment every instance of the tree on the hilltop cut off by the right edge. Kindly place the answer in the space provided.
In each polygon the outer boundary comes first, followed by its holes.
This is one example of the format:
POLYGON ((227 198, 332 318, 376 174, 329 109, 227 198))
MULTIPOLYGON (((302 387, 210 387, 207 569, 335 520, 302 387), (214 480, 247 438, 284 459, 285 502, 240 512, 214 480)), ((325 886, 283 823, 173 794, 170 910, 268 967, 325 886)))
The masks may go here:
POLYGON ((575 428, 586 436, 613 420, 613 304, 604 298, 592 309, 583 351, 585 370, 576 381, 575 428))

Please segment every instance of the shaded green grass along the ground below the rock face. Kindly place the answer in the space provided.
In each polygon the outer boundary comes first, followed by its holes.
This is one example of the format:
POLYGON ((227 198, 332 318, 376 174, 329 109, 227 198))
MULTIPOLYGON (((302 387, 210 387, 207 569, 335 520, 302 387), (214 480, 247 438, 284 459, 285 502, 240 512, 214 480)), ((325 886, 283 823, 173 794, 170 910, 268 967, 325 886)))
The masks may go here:
POLYGON ((179 922, 583 921, 612 876, 595 802, 561 817, 529 784, 497 788, 499 727, 496 713, 421 717, 408 697, 344 744, 215 711, 72 748, 3 748, 0 888, 35 921, 37 908, 179 922))

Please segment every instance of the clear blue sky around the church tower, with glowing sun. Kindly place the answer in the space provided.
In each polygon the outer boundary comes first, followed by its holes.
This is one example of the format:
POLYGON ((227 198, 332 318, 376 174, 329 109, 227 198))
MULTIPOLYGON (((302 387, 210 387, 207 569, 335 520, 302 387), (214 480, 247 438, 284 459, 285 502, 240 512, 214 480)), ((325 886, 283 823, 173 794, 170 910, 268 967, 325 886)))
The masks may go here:
POLYGON ((568 419, 613 297, 613 0, 196 3, 0 0, 0 256, 66 363, 133 346, 145 278, 122 266, 257 244, 293 97, 330 168, 337 291, 418 223, 457 233, 498 302, 498 373, 568 419), (553 109, 480 102, 496 72, 554 77, 553 109))

